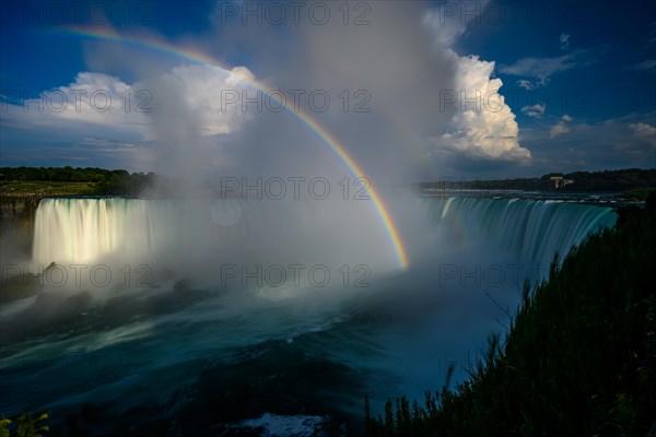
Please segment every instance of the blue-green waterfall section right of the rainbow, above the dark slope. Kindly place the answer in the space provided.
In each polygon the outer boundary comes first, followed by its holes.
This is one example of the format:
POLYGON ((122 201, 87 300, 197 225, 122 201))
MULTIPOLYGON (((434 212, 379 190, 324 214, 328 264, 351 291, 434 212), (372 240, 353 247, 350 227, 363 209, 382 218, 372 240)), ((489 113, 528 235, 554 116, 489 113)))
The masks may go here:
POLYGON ((448 224, 461 237, 490 241, 527 263, 548 269, 554 256, 602 228, 617 215, 610 208, 560 201, 489 198, 424 198, 430 221, 448 224))

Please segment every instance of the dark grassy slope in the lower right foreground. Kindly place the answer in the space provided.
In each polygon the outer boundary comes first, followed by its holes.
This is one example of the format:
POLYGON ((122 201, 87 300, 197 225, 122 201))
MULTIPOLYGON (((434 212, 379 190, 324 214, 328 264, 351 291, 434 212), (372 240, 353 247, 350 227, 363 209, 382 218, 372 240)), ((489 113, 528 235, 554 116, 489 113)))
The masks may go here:
POLYGON ((656 193, 525 288, 455 391, 366 410, 367 436, 656 435, 656 193))

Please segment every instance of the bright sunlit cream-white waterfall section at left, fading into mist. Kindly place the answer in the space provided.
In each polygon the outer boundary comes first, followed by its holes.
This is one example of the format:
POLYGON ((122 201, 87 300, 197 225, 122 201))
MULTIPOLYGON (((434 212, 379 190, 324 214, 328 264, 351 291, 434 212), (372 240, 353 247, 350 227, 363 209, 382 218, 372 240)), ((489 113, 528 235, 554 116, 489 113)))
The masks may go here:
POLYGON ((36 211, 33 260, 94 262, 107 257, 148 261, 162 253, 208 253, 242 246, 262 217, 245 202, 127 198, 44 199, 36 211))

